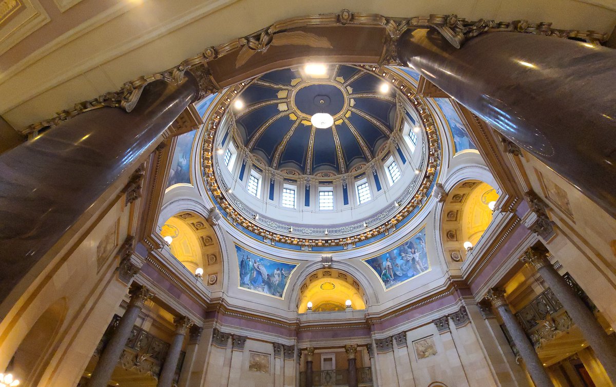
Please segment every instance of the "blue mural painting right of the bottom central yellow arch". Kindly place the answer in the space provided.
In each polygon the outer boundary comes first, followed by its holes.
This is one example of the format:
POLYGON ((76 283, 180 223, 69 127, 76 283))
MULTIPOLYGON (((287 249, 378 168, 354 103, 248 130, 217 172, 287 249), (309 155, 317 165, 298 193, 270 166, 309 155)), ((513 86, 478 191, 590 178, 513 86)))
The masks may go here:
POLYGON ((381 277, 386 290, 428 271, 426 230, 419 230, 402 245, 379 256, 364 259, 364 262, 381 277))

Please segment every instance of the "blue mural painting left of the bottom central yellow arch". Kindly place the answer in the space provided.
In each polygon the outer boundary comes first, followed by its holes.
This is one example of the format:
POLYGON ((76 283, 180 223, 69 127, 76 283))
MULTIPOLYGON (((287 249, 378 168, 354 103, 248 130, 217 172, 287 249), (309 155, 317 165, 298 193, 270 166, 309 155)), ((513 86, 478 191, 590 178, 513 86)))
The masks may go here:
POLYGON ((297 264, 274 261, 235 245, 240 269, 240 287, 282 298, 297 264))

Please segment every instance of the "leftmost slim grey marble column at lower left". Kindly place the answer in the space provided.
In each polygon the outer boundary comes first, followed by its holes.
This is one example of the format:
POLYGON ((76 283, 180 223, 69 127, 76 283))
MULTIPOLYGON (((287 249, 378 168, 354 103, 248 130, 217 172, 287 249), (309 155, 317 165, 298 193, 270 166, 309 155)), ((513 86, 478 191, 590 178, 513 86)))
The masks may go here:
POLYGON ((128 303, 128 308, 126 308, 126 312, 124 312, 105 349, 100 354, 99 361, 92 371, 92 377, 87 381, 87 387, 107 387, 107 382, 111 379, 111 374, 118 365, 126 341, 131 335, 132 327, 139 317, 139 312, 145 301, 152 297, 150 291, 144 286, 131 288, 129 294, 131 301, 128 303))

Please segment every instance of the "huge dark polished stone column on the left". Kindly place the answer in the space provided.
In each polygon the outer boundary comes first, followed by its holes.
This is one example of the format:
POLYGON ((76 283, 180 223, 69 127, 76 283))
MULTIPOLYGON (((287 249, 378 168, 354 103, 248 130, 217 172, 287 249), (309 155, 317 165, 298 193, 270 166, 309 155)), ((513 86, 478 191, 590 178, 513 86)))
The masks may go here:
POLYGON ((97 108, 0 155, 0 302, 198 94, 190 74, 153 81, 131 113, 97 108))

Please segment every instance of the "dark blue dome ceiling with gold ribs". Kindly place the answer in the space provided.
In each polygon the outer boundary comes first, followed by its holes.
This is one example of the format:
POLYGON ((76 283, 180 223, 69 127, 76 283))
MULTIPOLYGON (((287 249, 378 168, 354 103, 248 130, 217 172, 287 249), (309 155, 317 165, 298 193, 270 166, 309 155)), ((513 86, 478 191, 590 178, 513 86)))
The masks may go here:
POLYGON ((349 65, 331 65, 323 75, 303 67, 266 73, 238 97, 243 145, 274 169, 346 173, 372 160, 394 129, 395 91, 383 84, 349 65), (316 113, 328 113, 334 123, 316 128, 310 122, 316 113))

